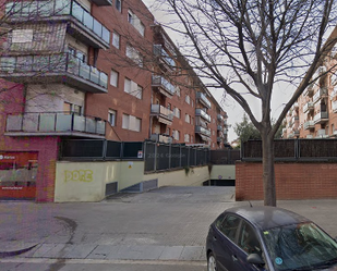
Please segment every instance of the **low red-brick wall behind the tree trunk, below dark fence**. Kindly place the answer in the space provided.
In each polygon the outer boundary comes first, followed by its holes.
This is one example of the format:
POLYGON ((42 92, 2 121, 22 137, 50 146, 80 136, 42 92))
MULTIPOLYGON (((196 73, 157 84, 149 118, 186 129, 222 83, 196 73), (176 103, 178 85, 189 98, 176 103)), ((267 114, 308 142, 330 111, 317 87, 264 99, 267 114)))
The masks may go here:
MULTIPOLYGON (((276 163, 277 199, 337 198, 337 163, 276 163)), ((262 163, 236 163, 236 199, 263 199, 262 163)))

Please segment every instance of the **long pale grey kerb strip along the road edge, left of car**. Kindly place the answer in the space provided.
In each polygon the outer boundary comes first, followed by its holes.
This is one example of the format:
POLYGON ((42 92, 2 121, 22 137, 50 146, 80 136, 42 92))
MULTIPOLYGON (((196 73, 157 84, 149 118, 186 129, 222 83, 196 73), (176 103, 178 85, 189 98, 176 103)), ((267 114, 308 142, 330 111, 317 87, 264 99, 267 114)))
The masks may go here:
MULTIPOLYGON (((60 259, 46 258, 4 258, 0 262, 14 263, 57 263, 60 259)), ((62 259, 64 264, 148 264, 148 266, 193 266, 206 267, 205 261, 181 261, 181 260, 104 260, 104 259, 62 259)))

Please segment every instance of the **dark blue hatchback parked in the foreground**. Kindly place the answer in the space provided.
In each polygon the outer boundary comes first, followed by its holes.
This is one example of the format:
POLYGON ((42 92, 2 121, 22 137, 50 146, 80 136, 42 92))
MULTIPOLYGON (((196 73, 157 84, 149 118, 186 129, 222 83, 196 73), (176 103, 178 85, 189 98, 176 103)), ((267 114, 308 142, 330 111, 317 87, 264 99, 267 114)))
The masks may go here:
POLYGON ((209 226, 208 271, 337 271, 337 243, 320 226, 275 207, 238 207, 209 226))

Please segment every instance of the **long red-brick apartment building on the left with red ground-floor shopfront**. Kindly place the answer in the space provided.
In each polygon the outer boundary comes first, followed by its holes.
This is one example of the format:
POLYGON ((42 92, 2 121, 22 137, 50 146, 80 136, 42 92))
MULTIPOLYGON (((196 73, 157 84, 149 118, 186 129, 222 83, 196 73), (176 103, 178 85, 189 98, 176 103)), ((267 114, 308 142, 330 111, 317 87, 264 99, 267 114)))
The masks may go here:
POLYGON ((2 8, 0 198, 53 201, 69 138, 224 148, 226 112, 141 0, 2 8))

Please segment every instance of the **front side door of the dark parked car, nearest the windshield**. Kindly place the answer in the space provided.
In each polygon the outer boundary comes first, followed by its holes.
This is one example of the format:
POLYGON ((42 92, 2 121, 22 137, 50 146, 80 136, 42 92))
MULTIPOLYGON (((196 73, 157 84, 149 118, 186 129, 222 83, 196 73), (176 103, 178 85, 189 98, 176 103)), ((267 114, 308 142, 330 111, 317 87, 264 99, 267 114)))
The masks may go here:
POLYGON ((242 220, 240 231, 238 234, 237 245, 233 249, 233 264, 232 270, 244 271, 265 271, 266 266, 258 267, 246 261, 246 257, 250 254, 257 254, 264 259, 261 243, 254 227, 246 221, 242 220))

